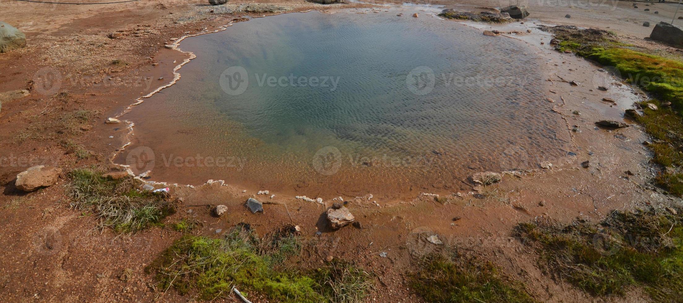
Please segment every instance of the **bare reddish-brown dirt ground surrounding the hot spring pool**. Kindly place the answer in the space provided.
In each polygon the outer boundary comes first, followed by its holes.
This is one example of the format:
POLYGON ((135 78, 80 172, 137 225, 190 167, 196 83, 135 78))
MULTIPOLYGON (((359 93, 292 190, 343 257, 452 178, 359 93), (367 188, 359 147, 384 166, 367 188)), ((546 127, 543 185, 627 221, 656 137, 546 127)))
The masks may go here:
MULTIPOLYGON (((477 1, 476 5, 497 6, 497 3, 499 1, 477 1)), ((280 4, 294 10, 320 8, 320 5, 301 0, 280 4)), ((38 6, 37 3, 0 2, 0 20, 16 25, 29 38, 26 48, 0 55, 0 91, 31 89, 31 96, 3 104, 0 112, 0 129, 3 130, 0 156, 5 157, 0 166, 3 190, 0 195, 0 220, 3 222, 0 246, 5 248, 0 258, 0 287, 3 289, 0 300, 191 300, 190 297, 180 298, 172 290, 156 289, 153 278, 143 272, 145 265, 180 237, 180 233, 169 228, 149 229, 135 235, 117 235, 109 229, 98 231, 93 229, 94 219, 66 207, 62 186, 66 180, 25 194, 14 188, 14 178, 33 164, 51 164, 68 171, 105 163, 114 149, 120 147, 115 143, 117 138, 109 139, 108 136, 113 128, 121 126, 105 125, 103 120, 120 113, 130 100, 156 88, 156 84, 163 82, 156 80, 159 77, 172 78, 171 70, 176 65, 173 61, 184 57, 165 49, 163 44, 188 31, 212 29, 238 17, 201 13, 209 9, 203 2, 186 1, 165 1, 163 7, 159 2, 146 0, 130 6, 38 6), (122 33, 122 38, 107 38, 108 33, 122 33), (113 59, 126 61, 128 66, 113 66, 113 59), (38 70, 46 66, 61 74, 59 92, 68 92, 67 98, 44 96, 35 83, 31 84, 36 74, 40 75, 38 70), (104 80, 107 77, 113 80, 104 80), (149 86, 145 84, 147 77, 151 82, 149 86), (52 122, 64 113, 79 109, 97 113, 90 124, 92 128, 74 134, 60 133, 59 126, 52 122), (31 124, 41 122, 46 123, 44 129, 18 142, 19 134, 31 124), (94 156, 77 159, 60 144, 66 139, 83 145, 94 156), (16 158, 4 160, 9 157, 16 158), (133 270, 133 274, 120 278, 125 269, 133 270)), ((583 8, 567 10, 583 12, 583 8)), ((641 14, 625 10, 617 8, 615 12, 633 14, 630 18, 641 14)), ((625 21, 574 18, 576 14, 571 19, 563 19, 555 15, 536 13, 532 17, 612 29, 624 25, 624 33, 644 37, 642 29, 626 27, 625 21)), ((371 201, 355 199, 349 207, 361 222, 361 229, 345 227, 331 232, 320 220, 323 205, 279 193, 273 201, 283 204, 266 204, 265 214, 253 215, 243 204, 247 197, 255 197, 255 190, 242 193, 242 188, 218 184, 173 188, 173 194, 183 198, 183 205, 166 222, 195 217, 201 222, 201 228, 195 233, 203 235, 216 235, 216 229, 226 231, 238 222, 252 223, 260 234, 283 224, 299 225, 307 242, 300 260, 303 267, 314 268, 328 256, 357 261, 378 276, 376 291, 370 298, 378 302, 419 302, 406 287, 404 273, 417 257, 449 248, 459 248, 493 261, 508 276, 525 281, 529 291, 540 301, 596 300, 563 281, 550 280, 542 274, 536 266, 535 253, 510 236, 512 227, 538 216, 563 222, 577 216, 599 220, 613 209, 628 209, 645 202, 661 203, 670 198, 647 185, 654 171, 647 164, 647 151, 640 145, 645 136, 638 126, 617 131, 593 130, 592 121, 596 119, 620 119, 620 114, 632 101, 632 96, 627 96, 629 92, 615 89, 607 95, 591 91, 595 66, 572 55, 555 53, 547 45, 539 46, 535 40, 537 36, 528 37, 533 37, 527 41, 530 47, 548 57, 548 69, 556 77, 548 79, 556 87, 556 92, 548 92, 548 97, 557 100, 556 109, 566 117, 568 131, 574 124, 583 129, 583 132, 573 134, 575 148, 572 151, 576 156, 554 161, 553 169, 539 169, 520 177, 506 175, 499 185, 481 188, 476 196, 449 197, 444 205, 430 197, 400 201, 374 197, 373 201, 378 201, 379 207, 371 201), (561 81, 562 78, 583 85, 572 87, 561 81), (600 103, 603 95, 619 96, 619 104, 612 107, 600 103), (581 116, 572 115, 574 110, 581 111, 581 116), (594 156, 589 156, 589 152, 594 156), (589 169, 581 167, 585 160, 591 162, 589 169), (627 175, 625 171, 633 175, 627 175), (544 206, 540 206, 540 201, 544 201, 544 206), (217 204, 229 207, 223 218, 210 216, 206 206, 217 204), (454 222, 454 217, 461 218, 454 222), (316 231, 323 233, 316 236, 316 231), (445 244, 434 246, 426 242, 426 235, 432 233, 438 234, 445 244), (387 252, 386 258, 378 256, 382 251, 387 252)), ((516 38, 525 40, 522 36, 516 38)), ((258 197, 269 201, 264 196, 258 197)), ((331 205, 331 201, 325 203, 331 205)), ((610 301, 644 300, 637 291, 627 298, 610 301)))

